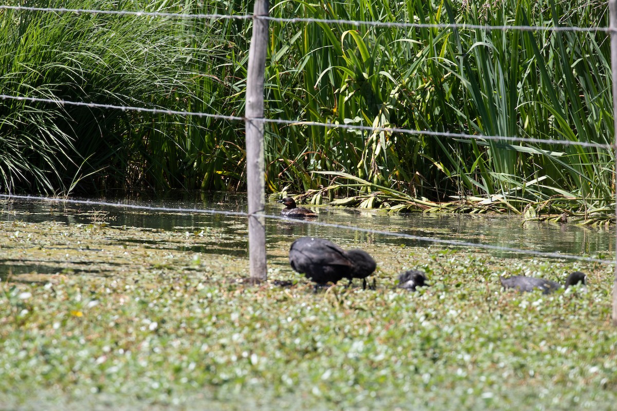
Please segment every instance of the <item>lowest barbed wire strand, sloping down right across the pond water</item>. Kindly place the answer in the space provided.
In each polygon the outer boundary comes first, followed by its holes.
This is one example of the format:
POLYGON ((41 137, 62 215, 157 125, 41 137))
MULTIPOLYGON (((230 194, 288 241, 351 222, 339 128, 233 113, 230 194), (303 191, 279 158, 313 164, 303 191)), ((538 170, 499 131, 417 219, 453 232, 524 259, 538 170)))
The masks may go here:
POLYGON ((33 195, 0 194, 0 198, 6 198, 7 200, 18 198, 20 200, 51 201, 54 203, 67 203, 67 204, 79 204, 79 205, 91 205, 91 206, 107 206, 107 207, 115 207, 115 208, 130 208, 131 210, 159 211, 159 212, 164 212, 164 213, 223 214, 225 216, 236 216, 236 217, 237 216, 248 217, 250 215, 254 215, 254 216, 259 216, 259 217, 268 218, 268 219, 284 220, 288 222, 293 222, 295 224, 310 224, 310 225, 321 226, 321 227, 332 227, 336 229, 359 231, 359 232, 365 232, 368 234, 381 234, 381 235, 386 235, 389 237, 407 238, 410 240, 418 240, 418 241, 437 243, 437 244, 442 244, 442 245, 484 248, 487 250, 529 254, 529 255, 545 257, 545 258, 574 259, 578 261, 599 262, 601 264, 615 264, 615 260, 575 256, 573 254, 562 254, 562 253, 554 253, 554 252, 547 252, 547 251, 524 250, 522 248, 511 248, 511 247, 504 247, 504 246, 499 246, 499 245, 472 243, 472 242, 464 242, 464 241, 458 241, 458 240, 444 240, 442 238, 424 237, 422 235, 405 234, 405 233, 391 232, 391 231, 386 231, 386 230, 363 229, 360 227, 344 226, 342 224, 333 224, 329 222, 310 221, 310 220, 302 220, 302 219, 290 219, 284 216, 273 216, 270 214, 263 214, 263 213, 249 214, 249 213, 244 213, 242 211, 207 210, 207 209, 202 209, 202 208, 155 207, 155 206, 146 206, 146 205, 126 204, 126 203, 110 203, 107 201, 97 201, 97 200, 73 200, 70 198, 41 197, 41 196, 33 196, 33 195))

